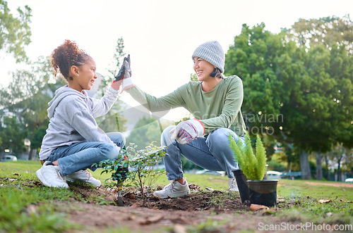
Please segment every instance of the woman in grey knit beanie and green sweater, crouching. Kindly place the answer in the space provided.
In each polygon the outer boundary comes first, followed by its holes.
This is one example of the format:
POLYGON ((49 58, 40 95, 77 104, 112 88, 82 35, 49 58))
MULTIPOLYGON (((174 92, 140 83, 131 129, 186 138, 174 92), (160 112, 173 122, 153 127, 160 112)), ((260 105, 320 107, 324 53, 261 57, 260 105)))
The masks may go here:
POLYGON ((218 42, 206 42, 193 53, 193 69, 199 82, 189 82, 174 92, 156 98, 123 80, 123 89, 150 111, 184 107, 196 119, 169 126, 162 132, 161 144, 167 146, 164 166, 169 185, 155 196, 162 199, 190 193, 181 169, 181 154, 208 170, 223 170, 229 177, 229 189, 237 191, 233 171, 238 164, 229 148, 228 137, 244 140, 246 132, 241 115, 243 85, 237 76, 222 77, 225 53, 218 42))

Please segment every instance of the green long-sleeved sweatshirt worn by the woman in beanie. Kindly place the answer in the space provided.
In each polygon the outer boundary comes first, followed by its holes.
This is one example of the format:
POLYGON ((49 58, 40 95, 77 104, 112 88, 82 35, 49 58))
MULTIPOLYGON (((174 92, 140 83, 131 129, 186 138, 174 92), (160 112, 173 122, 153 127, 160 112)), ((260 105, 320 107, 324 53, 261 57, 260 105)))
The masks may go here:
POLYGON ((238 76, 222 79, 210 92, 203 92, 201 82, 189 82, 174 92, 157 98, 138 87, 126 89, 133 99, 151 112, 184 107, 205 126, 205 135, 220 127, 233 130, 238 136, 246 132, 241 115, 243 83, 238 76))

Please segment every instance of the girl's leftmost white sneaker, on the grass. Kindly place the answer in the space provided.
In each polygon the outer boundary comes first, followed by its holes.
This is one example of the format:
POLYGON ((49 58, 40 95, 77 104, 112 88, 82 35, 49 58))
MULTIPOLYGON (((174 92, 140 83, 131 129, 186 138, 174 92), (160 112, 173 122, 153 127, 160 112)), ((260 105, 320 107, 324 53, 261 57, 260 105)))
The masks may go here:
POLYGON ((47 187, 68 189, 68 184, 60 174, 59 166, 48 165, 48 163, 52 162, 46 161, 42 165, 42 168, 35 172, 35 175, 37 175, 38 179, 47 187))

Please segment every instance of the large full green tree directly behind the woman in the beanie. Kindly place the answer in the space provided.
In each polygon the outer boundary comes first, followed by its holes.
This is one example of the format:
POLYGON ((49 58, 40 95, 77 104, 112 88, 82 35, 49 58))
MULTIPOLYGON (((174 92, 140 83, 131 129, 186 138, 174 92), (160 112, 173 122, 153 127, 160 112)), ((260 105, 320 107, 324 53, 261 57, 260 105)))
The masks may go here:
POLYGON ((293 144, 302 177, 310 179, 309 152, 328 151, 335 141, 344 140, 343 135, 352 141, 352 132, 347 132, 352 127, 347 115, 353 107, 348 94, 352 56, 345 46, 308 49, 287 39, 285 31, 272 34, 264 28, 263 23, 253 29, 243 25, 227 52, 225 68, 243 80, 249 132, 255 129, 255 134, 261 131, 282 144, 293 144), (337 64, 340 74, 335 72, 337 64))

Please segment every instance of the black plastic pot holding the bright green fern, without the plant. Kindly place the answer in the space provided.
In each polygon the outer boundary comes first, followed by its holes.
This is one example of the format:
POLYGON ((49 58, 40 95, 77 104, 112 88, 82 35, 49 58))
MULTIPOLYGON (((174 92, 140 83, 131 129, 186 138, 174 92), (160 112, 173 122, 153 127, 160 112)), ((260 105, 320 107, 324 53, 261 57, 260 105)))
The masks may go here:
POLYGON ((263 206, 277 205, 278 180, 248 180, 250 203, 263 206))

